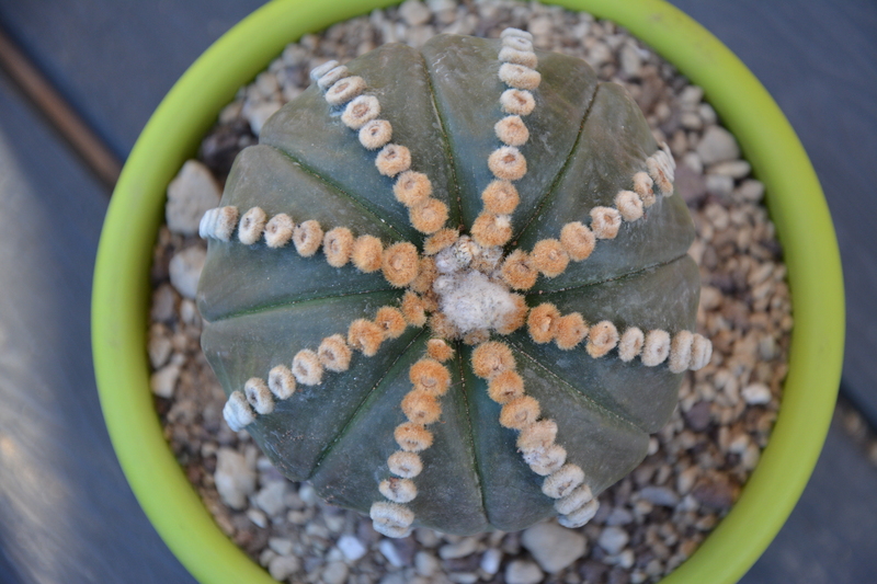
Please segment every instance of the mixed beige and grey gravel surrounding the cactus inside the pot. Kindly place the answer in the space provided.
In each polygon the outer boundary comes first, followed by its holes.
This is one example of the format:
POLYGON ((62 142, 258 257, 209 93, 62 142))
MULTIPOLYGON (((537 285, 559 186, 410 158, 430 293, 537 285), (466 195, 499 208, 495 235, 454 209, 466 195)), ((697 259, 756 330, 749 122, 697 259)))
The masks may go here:
POLYGON ((219 527, 282 582, 402 584, 657 582, 687 559, 727 514, 759 462, 786 375, 791 306, 774 227, 734 138, 672 66, 611 22, 536 3, 409 0, 291 44, 238 93, 168 188, 155 249, 149 358, 164 434, 219 527), (697 332, 711 362, 690 371, 649 456, 600 495, 590 524, 549 520, 521 533, 446 536, 419 528, 389 539, 366 516, 328 505, 284 479, 246 432, 223 420, 226 396, 201 352, 195 291, 206 255, 197 233, 218 205, 235 156, 329 59, 384 43, 419 47, 438 33, 497 37, 529 31, 537 48, 585 59, 624 85, 676 160, 701 266, 697 332))

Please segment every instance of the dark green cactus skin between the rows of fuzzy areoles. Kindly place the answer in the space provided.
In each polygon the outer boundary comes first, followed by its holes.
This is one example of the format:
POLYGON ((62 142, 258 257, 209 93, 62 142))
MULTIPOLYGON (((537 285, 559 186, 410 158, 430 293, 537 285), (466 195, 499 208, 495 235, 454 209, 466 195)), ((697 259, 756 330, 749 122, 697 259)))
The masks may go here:
MULTIPOLYGON (((498 77, 500 48, 499 41, 443 35, 421 50, 386 45, 348 65, 378 98, 392 141, 410 149, 412 169, 425 172, 432 196, 448 205, 447 225, 462 232, 493 179, 487 159, 499 146, 493 125, 505 115, 499 96, 508 89, 498 77)), ((557 238, 569 221, 588 225, 590 209, 613 206, 658 149, 620 87, 597 82, 580 59, 537 56, 542 83, 533 92, 535 110, 524 117, 531 138, 521 147, 528 171, 515 182, 521 203, 506 252, 557 238)), ((376 171, 375 152, 342 124, 341 111, 316 84, 284 106, 260 144, 239 154, 221 205, 241 213, 259 206, 269 216, 286 213, 326 230, 373 234, 385 247, 410 241, 422 249, 424 236, 394 198, 392 180, 376 171)), ((686 254, 693 238, 684 202, 659 196, 642 219, 599 240, 590 257, 570 262, 557 277, 539 277, 526 301, 554 302, 592 323, 610 320, 619 331, 692 331, 699 295, 698 271, 686 254)), ((402 294, 379 271, 331 267, 320 256, 300 257, 292 245, 212 240, 198 291, 202 345, 230 393, 276 365, 288 367, 299 350, 344 334, 354 319, 398 306, 402 294)), ((429 328, 409 327, 374 357, 354 352, 346 371, 327 373, 319 386, 299 383, 247 430, 286 477, 310 480, 328 502, 368 513, 384 500, 378 483, 390 476, 387 457, 398 450, 394 428, 406 422, 400 402, 411 390, 408 370, 430 336, 429 328)), ((534 343, 524 329, 494 337, 512 348, 525 391, 539 401, 543 419, 557 422, 557 443, 595 495, 642 460, 649 434, 676 404, 682 374, 665 364, 624 363, 617 352, 592 358, 583 344, 561 351, 534 343)), ((501 405, 472 373, 472 347, 454 347, 445 364, 452 387, 441 399, 440 422, 429 426, 433 445, 420 453, 418 496, 407 504, 414 525, 449 534, 511 531, 556 515, 555 501, 540 491, 544 478, 523 461, 517 433, 499 424, 501 405)))

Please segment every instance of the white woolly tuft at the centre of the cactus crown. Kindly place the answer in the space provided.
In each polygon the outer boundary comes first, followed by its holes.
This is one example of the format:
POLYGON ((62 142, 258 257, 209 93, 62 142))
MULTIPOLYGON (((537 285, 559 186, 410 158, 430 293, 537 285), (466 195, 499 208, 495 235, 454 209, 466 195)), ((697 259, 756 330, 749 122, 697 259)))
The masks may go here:
POLYGON ((509 288, 475 270, 440 276, 433 289, 442 312, 463 333, 494 329, 515 310, 509 288))

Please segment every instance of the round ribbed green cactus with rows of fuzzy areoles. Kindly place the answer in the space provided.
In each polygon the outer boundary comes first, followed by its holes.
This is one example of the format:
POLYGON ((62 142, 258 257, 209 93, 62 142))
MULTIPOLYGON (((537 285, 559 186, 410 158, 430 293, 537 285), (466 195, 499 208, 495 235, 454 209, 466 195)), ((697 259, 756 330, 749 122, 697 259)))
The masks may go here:
POLYGON ((311 77, 201 225, 227 422, 389 537, 583 525, 711 354, 672 156, 517 30, 311 77))

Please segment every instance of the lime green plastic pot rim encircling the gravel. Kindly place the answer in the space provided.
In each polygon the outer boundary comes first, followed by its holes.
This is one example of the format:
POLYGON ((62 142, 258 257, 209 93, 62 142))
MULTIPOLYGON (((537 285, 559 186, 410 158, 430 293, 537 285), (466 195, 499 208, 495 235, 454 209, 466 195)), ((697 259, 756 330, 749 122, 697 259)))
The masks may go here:
MULTIPOLYGON (((220 108, 303 34, 387 0, 275 0, 216 42, 150 118, 113 194, 92 299, 94 368, 122 468, 150 520, 202 583, 274 582, 216 526, 164 440, 149 390, 149 270, 164 191, 220 108)), ((816 173, 765 89, 706 30, 659 0, 559 0, 625 26, 704 88, 758 178, 785 251, 795 328, 771 442, 728 516, 663 582, 731 584, 767 548, 812 472, 836 398, 844 337, 834 229, 816 173)))

